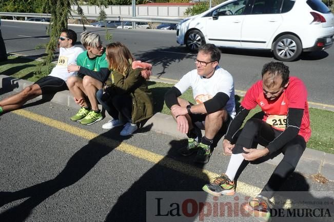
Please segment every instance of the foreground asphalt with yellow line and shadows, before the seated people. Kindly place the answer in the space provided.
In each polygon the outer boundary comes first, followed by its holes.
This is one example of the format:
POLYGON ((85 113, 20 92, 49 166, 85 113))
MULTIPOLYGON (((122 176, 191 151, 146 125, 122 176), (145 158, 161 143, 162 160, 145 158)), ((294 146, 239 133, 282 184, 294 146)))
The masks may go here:
MULTIPOLYGON (((0 99, 11 93, 0 95, 0 99)), ((121 137, 121 128, 102 129, 108 119, 89 127, 71 122, 69 116, 76 111, 33 100, 22 110, 0 116, 1 222, 254 221, 239 211, 240 206, 262 189, 273 165, 248 165, 238 179, 237 195, 214 199, 201 192, 201 187, 226 169, 229 157, 222 155, 220 146, 203 167, 192 162, 194 156, 177 153, 184 140, 150 131, 150 126, 121 137), (181 206, 187 199, 195 199, 198 205, 206 203, 203 220, 198 214, 176 219, 170 214, 156 216, 167 214, 176 208, 173 203, 181 206), (215 203, 232 208, 227 208, 224 216, 214 216, 208 205, 215 203)), ((292 194, 303 200, 328 201, 331 204, 322 208, 329 208, 334 215, 333 182, 320 184, 293 173, 282 190, 290 191, 286 197, 282 193, 283 203, 289 203, 292 194)), ((291 219, 331 221, 325 217, 291 219)))

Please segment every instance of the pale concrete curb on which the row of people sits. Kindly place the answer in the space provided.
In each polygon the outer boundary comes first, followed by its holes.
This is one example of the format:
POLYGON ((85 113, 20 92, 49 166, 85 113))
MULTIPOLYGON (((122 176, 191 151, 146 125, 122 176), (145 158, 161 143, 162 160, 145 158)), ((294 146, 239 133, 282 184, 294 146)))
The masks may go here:
MULTIPOLYGON (((21 91, 32 84, 27 80, 13 78, 7 75, 0 75, 0 82, 0 86, 2 87, 0 88, 0 92, 21 91)), ((42 96, 39 97, 42 98, 42 96)), ((78 108, 69 91, 56 93, 51 99, 51 102, 71 108, 78 108)), ((178 138, 186 138, 186 135, 176 130, 176 123, 170 115, 155 113, 146 123, 146 125, 150 124, 152 125, 151 130, 155 132, 165 133, 178 138)), ((219 142, 218 146, 220 148, 221 142, 219 142)), ((283 154, 280 154, 273 159, 267 160, 267 163, 277 166, 282 158, 283 154)), ((296 171, 306 176, 320 173, 328 180, 334 181, 334 154, 306 148, 296 171)))

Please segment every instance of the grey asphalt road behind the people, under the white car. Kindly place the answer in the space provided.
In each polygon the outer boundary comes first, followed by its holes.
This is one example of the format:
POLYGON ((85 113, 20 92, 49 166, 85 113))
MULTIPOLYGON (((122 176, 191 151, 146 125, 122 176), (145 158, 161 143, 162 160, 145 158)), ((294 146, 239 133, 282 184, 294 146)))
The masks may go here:
MULTIPOLYGON (((2 21, 2 34, 8 53, 42 56, 45 49, 36 46, 48 43, 46 25, 2 21)), ((82 27, 69 26, 77 33, 82 27)), ((88 28, 102 36, 105 30, 88 28)), ((169 30, 122 30, 109 29, 112 41, 125 43, 137 59, 153 64, 155 77, 180 79, 194 68, 194 53, 176 43, 175 31, 169 30)), ((78 40, 79 41, 79 40, 78 40)), ((79 43, 80 44, 80 43, 79 43)), ((270 52, 222 49, 221 66, 234 77, 235 89, 246 91, 260 79, 262 66, 275 60, 270 52)), ((307 88, 310 102, 334 106, 334 47, 326 51, 303 55, 301 59, 287 63, 290 73, 301 77, 307 88)))

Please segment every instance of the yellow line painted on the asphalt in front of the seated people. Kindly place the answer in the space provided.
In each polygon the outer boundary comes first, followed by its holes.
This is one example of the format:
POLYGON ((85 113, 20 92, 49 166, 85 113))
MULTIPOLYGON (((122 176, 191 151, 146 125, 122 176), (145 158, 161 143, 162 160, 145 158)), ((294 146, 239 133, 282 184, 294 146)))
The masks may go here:
MULTIPOLYGON (((147 160, 148 162, 151 162, 153 164, 159 164, 161 166, 184 173, 189 176, 197 177, 203 180, 206 180, 207 178, 209 178, 210 181, 212 181, 213 178, 219 176, 219 174, 217 173, 214 173, 208 170, 203 170, 203 169, 200 169, 198 167, 194 167, 188 164, 184 164, 172 158, 169 158, 169 157, 166 157, 160 154, 156 154, 148 150, 126 144, 124 142, 120 144, 120 142, 117 142, 116 140, 108 138, 106 136, 102 136, 102 135, 90 132, 88 130, 74 127, 74 126, 65 124, 63 122, 60 122, 58 120, 51 119, 46 116, 38 115, 36 113, 30 112, 27 110, 15 110, 15 111, 12 111, 12 113, 29 118, 31 120, 34 120, 35 122, 42 123, 44 125, 56 128, 58 130, 68 132, 72 135, 76 135, 81 138, 92 140, 92 142, 115 148, 115 150, 130 154, 137 158, 147 160)), ((199 185, 199 186, 202 186, 202 185, 199 185)), ((255 186, 251 186, 249 184, 245 184, 241 181, 238 181, 237 192, 243 195, 246 195, 246 196, 256 196, 261 192, 261 189, 255 186)))

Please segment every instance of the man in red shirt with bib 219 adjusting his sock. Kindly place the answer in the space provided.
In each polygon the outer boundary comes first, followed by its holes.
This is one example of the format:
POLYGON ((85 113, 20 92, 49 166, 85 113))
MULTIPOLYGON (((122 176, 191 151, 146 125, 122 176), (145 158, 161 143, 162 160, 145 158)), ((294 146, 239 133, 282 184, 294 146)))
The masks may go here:
POLYGON ((243 160, 256 160, 267 154, 283 153, 261 193, 251 199, 245 210, 261 221, 270 218, 269 199, 296 168, 311 136, 307 90, 301 79, 289 77, 289 68, 270 62, 262 69, 262 80, 246 92, 240 111, 232 120, 223 140, 224 152, 231 155, 225 174, 203 190, 216 195, 233 195, 234 177, 243 160), (234 137, 251 109, 259 105, 263 119, 250 118, 234 143, 234 137), (264 149, 256 149, 257 144, 264 149))

